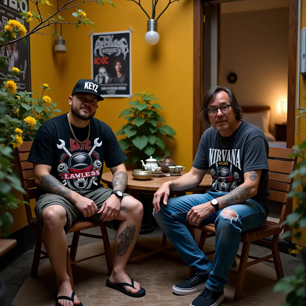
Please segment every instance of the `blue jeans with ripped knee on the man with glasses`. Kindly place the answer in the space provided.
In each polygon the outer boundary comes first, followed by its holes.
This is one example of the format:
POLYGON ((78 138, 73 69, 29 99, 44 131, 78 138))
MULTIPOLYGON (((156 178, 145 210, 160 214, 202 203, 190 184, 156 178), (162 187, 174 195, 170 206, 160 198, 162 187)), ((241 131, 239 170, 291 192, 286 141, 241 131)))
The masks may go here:
POLYGON ((162 231, 175 246, 188 266, 194 268, 196 274, 209 272, 206 287, 213 291, 222 291, 228 282, 227 273, 233 265, 238 252, 241 232, 254 230, 264 225, 266 213, 263 207, 254 200, 247 200, 243 204, 228 206, 214 211, 205 218, 203 223, 215 223, 215 257, 210 260, 198 248, 196 242, 186 228, 187 213, 193 206, 206 203, 227 192, 207 192, 169 198, 167 205, 160 201, 161 210, 153 215, 162 231), (237 218, 226 216, 225 210, 232 210, 237 218))

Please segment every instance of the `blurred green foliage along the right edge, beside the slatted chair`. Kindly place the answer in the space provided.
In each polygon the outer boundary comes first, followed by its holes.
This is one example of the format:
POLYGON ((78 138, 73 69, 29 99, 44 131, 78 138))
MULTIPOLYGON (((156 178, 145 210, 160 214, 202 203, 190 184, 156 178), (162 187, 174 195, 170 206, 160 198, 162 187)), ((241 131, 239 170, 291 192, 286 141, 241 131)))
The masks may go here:
MULTIPOLYGON (((301 229, 306 226, 306 141, 293 147, 297 150, 294 156, 298 156, 291 178, 295 177, 292 184, 292 191, 288 197, 296 197, 297 208, 287 216, 283 224, 288 224, 292 230, 286 231, 282 238, 293 236, 300 240, 301 229)), ((284 306, 304 306, 306 305, 306 247, 296 244, 295 248, 289 250, 291 254, 302 257, 302 264, 298 266, 293 275, 282 278, 274 287, 274 291, 282 291, 286 294, 284 306)))

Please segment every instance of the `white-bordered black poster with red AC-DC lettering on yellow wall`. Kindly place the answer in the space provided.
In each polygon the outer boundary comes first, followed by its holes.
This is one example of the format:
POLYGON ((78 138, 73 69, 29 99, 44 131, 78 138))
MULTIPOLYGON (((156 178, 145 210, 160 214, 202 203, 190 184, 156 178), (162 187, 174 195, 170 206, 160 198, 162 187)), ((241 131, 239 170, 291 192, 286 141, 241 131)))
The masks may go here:
POLYGON ((91 35, 91 78, 101 85, 103 97, 132 94, 131 32, 91 35))

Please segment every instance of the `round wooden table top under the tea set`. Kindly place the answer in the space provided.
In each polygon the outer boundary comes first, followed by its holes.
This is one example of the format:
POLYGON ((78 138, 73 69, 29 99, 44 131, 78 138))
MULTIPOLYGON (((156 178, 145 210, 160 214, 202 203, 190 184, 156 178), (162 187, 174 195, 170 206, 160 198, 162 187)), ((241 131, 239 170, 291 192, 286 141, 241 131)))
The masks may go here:
MULTIPOLYGON (((140 181, 140 180, 135 180, 134 177, 132 177, 132 172, 133 170, 127 170, 128 174, 128 184, 127 188, 130 189, 138 189, 138 190, 151 190, 151 191, 156 191, 159 189, 159 187, 167 182, 167 181, 174 181, 180 176, 162 176, 162 177, 152 177, 150 180, 147 181, 140 181)), ((185 172, 181 172, 184 174, 185 172)), ((107 185, 111 185, 113 179, 113 174, 111 172, 105 172, 102 174, 101 181, 107 185)), ((202 182, 200 183, 199 186, 186 189, 184 191, 186 192, 192 192, 192 191, 202 191, 211 188, 211 183, 212 183, 212 178, 210 174, 205 174, 203 177, 202 182)))

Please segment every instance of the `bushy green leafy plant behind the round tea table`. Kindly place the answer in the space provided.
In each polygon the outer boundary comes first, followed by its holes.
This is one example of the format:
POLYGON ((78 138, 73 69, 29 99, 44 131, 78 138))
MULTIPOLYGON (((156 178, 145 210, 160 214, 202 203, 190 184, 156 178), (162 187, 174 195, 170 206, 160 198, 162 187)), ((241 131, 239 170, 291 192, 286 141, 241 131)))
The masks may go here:
POLYGON ((153 156, 159 160, 161 154, 170 155, 162 137, 174 140, 176 132, 164 124, 166 120, 160 115, 162 106, 155 102, 158 99, 153 94, 141 92, 134 97, 140 99, 129 102, 130 107, 121 112, 119 118, 125 117, 127 123, 116 135, 125 135, 119 144, 128 157, 126 163, 141 168, 141 159, 153 156))

